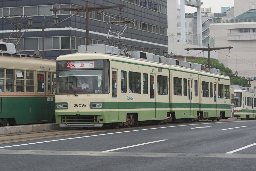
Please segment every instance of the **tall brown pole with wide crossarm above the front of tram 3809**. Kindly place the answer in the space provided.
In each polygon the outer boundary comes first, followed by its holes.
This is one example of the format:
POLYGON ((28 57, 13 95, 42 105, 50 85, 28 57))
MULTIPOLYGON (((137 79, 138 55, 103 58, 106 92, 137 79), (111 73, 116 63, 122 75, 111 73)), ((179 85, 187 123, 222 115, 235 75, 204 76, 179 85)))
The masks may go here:
POLYGON ((89 12, 92 11, 100 11, 110 8, 119 8, 120 12, 119 14, 122 14, 123 7, 126 7, 126 5, 108 5, 108 6, 89 6, 89 0, 86 0, 86 6, 85 7, 76 7, 76 8, 53 8, 50 9, 50 11, 57 12, 60 10, 64 11, 77 11, 77 12, 85 12, 85 18, 86 18, 86 44, 90 44, 90 19, 89 19, 89 12))

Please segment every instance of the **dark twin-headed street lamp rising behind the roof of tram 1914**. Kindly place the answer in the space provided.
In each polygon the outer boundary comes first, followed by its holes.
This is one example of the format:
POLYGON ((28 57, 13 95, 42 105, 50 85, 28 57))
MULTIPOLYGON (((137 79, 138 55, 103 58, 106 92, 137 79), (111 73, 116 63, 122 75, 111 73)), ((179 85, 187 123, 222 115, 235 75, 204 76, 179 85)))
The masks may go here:
POLYGON ((44 59, 45 58, 45 53, 44 53, 44 28, 57 27, 57 24, 59 23, 59 17, 56 16, 56 12, 55 12, 55 14, 53 16, 53 22, 54 22, 53 26, 45 26, 44 22, 42 22, 42 26, 32 27, 33 20, 34 20, 33 18, 27 19, 27 25, 29 25, 29 28, 42 28, 42 51, 43 51, 43 59, 44 59))

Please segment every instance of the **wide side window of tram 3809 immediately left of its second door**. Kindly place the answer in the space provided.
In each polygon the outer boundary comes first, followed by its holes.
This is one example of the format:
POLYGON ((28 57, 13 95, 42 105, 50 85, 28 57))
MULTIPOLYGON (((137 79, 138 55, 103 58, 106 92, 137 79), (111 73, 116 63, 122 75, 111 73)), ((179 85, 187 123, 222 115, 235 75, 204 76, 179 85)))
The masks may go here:
POLYGON ((129 72, 129 93, 141 93, 141 73, 129 72))

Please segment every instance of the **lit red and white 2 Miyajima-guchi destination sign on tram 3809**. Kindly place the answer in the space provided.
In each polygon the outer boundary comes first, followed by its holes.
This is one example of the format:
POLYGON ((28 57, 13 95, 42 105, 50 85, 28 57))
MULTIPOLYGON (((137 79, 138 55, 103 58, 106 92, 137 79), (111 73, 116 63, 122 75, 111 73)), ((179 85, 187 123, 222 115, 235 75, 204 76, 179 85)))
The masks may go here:
POLYGON ((81 68, 94 68, 94 61, 67 61, 67 69, 81 69, 81 68))

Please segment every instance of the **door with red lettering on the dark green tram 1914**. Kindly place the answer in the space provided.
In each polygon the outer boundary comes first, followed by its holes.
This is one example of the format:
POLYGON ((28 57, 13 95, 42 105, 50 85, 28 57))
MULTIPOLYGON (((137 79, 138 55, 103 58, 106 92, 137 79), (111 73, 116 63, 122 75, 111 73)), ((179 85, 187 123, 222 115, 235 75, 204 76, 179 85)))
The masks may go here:
MULTIPOLYGON (((36 107, 37 110, 37 120, 38 121, 46 121, 47 113, 46 113, 46 91, 45 91, 45 72, 37 72, 37 90, 36 94, 38 95, 36 107)), ((32 109, 33 110, 33 109, 32 109)))

